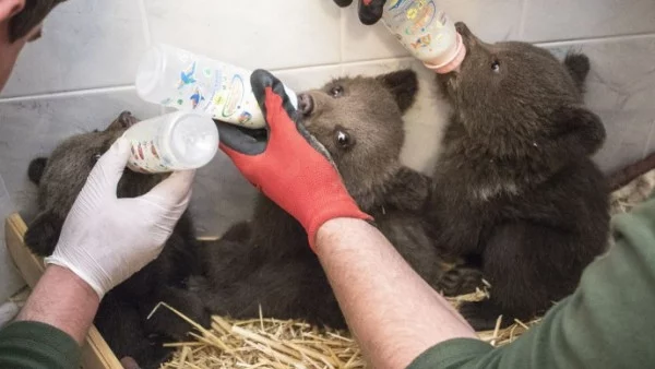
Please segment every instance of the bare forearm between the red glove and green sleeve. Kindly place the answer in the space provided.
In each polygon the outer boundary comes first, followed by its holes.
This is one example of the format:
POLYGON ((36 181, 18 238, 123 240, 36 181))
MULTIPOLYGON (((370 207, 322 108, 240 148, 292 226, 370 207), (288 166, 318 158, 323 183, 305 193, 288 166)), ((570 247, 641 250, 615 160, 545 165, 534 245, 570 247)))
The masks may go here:
POLYGON ((366 222, 325 223, 318 231, 317 252, 348 325, 374 368, 404 368, 440 342, 476 337, 449 302, 366 222))

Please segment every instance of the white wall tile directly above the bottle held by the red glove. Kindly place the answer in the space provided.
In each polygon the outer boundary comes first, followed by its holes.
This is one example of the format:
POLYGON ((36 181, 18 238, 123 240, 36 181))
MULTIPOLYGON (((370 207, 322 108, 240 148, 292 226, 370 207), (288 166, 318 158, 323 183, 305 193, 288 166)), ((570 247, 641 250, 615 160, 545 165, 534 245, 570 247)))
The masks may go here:
POLYGON ((144 0, 153 41, 243 68, 340 61, 340 9, 308 0, 144 0))

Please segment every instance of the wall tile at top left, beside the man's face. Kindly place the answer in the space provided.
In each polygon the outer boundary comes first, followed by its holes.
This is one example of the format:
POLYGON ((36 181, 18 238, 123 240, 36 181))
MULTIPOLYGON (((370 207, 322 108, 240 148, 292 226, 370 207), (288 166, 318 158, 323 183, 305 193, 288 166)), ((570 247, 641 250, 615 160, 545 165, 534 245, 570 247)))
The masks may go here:
POLYGON ((127 85, 145 50, 134 0, 74 0, 48 16, 19 58, 2 96, 127 85))

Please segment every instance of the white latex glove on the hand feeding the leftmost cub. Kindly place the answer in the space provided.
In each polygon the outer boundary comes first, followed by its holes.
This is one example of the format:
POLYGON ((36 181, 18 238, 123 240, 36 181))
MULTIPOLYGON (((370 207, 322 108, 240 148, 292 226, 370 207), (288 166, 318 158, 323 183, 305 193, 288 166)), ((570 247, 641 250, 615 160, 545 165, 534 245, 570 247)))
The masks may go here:
POLYGON ((46 259, 79 275, 100 299, 159 255, 191 197, 194 170, 174 172, 140 198, 118 199, 129 155, 129 142, 119 139, 98 159, 46 259))

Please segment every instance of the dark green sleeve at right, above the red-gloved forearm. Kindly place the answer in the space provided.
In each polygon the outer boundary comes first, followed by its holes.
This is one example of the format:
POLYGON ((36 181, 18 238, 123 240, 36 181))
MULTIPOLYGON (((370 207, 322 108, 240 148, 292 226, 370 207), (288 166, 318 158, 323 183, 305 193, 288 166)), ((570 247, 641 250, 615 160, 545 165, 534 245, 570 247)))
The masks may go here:
POLYGON ((538 326, 498 349, 451 340, 422 368, 655 368, 655 200, 612 221, 616 245, 538 326))

